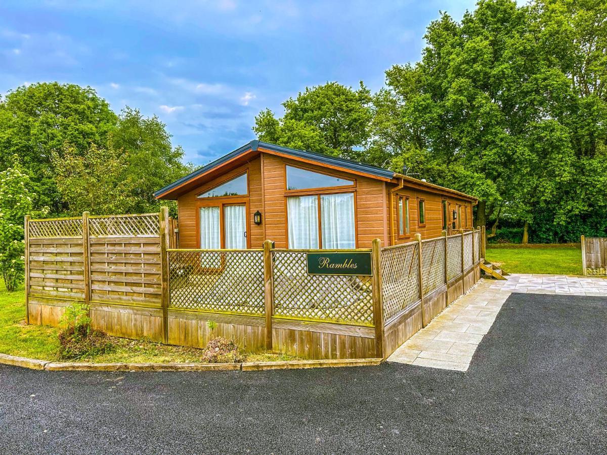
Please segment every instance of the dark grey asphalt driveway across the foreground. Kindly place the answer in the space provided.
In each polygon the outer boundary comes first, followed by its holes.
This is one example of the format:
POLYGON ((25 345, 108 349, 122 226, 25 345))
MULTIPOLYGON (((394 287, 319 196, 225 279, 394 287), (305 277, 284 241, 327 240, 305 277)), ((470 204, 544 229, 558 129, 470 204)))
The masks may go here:
POLYGON ((0 366, 3 453, 607 453, 607 298, 512 294, 467 372, 0 366))

